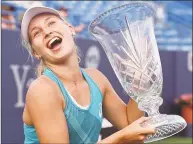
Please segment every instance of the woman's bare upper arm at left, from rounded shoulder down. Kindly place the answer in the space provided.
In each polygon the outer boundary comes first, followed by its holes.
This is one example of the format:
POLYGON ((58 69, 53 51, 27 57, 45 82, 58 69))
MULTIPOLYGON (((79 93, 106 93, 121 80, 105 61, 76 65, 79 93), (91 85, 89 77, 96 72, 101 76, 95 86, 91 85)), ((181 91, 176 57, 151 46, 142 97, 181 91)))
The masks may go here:
POLYGON ((26 106, 40 143, 69 143, 64 105, 54 82, 45 77, 33 82, 26 106))

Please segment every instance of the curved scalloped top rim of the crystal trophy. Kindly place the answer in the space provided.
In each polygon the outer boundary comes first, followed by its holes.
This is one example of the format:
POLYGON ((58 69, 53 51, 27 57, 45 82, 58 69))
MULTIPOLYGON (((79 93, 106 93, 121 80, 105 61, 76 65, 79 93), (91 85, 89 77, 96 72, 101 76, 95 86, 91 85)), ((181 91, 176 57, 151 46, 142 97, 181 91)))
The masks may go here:
POLYGON ((92 20, 90 22, 90 24, 88 26, 88 32, 90 34, 93 34, 93 29, 96 26, 96 25, 94 25, 94 23, 97 22, 98 20, 100 20, 101 18, 106 17, 109 14, 109 12, 115 11, 117 9, 125 8, 125 7, 131 7, 131 6, 146 6, 151 10, 152 16, 155 15, 154 8, 150 4, 148 4, 147 2, 130 2, 130 3, 127 3, 127 4, 123 4, 123 5, 113 7, 111 9, 106 10, 106 11, 102 12, 101 14, 99 14, 94 20, 92 20))

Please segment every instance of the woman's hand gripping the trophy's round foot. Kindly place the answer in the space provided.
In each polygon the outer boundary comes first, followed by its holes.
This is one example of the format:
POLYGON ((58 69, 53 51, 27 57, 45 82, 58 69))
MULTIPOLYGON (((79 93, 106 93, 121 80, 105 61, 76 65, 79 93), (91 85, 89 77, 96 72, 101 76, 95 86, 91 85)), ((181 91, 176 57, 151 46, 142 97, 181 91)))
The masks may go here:
POLYGON ((124 129, 122 129, 122 142, 128 144, 141 144, 149 134, 154 134, 155 129, 152 127, 142 127, 141 123, 147 121, 150 117, 141 117, 124 129))

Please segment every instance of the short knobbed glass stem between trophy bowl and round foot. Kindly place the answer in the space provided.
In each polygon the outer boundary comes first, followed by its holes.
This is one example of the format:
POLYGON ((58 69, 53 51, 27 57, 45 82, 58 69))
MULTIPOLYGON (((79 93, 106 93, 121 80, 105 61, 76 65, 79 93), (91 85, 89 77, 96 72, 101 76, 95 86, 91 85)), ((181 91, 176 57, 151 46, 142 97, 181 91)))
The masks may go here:
POLYGON ((162 103, 163 99, 161 97, 151 96, 139 99, 138 107, 140 110, 145 111, 148 116, 154 116, 160 114, 159 107, 162 103))

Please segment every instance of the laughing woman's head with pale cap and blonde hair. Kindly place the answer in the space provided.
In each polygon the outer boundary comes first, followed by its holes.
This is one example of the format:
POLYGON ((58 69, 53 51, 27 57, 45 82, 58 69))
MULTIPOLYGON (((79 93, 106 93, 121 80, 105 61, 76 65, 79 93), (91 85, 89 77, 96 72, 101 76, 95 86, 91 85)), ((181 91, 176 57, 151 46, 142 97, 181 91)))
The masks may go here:
MULTIPOLYGON (((25 15, 25 17, 28 17, 28 18, 31 17, 31 21, 30 23, 28 23, 28 27, 25 26, 27 25, 26 21, 22 21, 23 22, 22 24, 24 26, 22 27, 23 28, 22 36, 23 36, 23 41, 25 41, 23 43, 28 44, 27 46, 25 45, 25 48, 28 50, 28 52, 31 54, 31 56, 35 56, 37 59, 40 60, 40 65, 39 65, 39 68, 37 69, 37 76, 40 76, 43 72, 43 69, 45 68, 45 65, 46 65, 45 61, 47 59, 50 60, 50 58, 52 58, 51 60, 53 62, 54 61, 58 62, 58 60, 56 59, 57 57, 56 53, 58 51, 65 50, 67 52, 66 55, 68 55, 72 51, 77 53, 78 50, 73 41, 72 36, 75 35, 75 32, 71 27, 71 25, 68 24, 66 21, 64 21, 57 14, 57 11, 54 11, 55 13, 51 13, 50 10, 48 9, 44 13, 39 13, 38 8, 36 7, 36 8, 30 9, 29 12, 26 13, 26 14, 29 14, 30 11, 33 11, 33 12, 35 10, 37 11, 37 14, 35 13, 36 15, 34 13, 32 15, 25 15), (63 32, 61 30, 63 30, 63 32), (43 35, 43 31, 45 31, 45 35, 43 35), (68 33, 64 33, 64 32, 68 32, 68 33), (70 35, 68 36, 68 34, 70 35), (68 43, 67 42, 64 43, 63 37, 65 38, 66 41, 68 41, 68 43), (61 45, 63 45, 65 49, 60 49, 61 45)), ((61 52, 58 53, 58 56, 59 54, 61 54, 61 52)), ((78 55, 77 55, 77 59, 78 60, 80 59, 78 55)))

